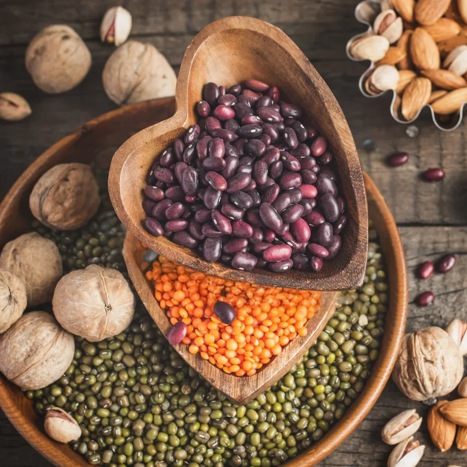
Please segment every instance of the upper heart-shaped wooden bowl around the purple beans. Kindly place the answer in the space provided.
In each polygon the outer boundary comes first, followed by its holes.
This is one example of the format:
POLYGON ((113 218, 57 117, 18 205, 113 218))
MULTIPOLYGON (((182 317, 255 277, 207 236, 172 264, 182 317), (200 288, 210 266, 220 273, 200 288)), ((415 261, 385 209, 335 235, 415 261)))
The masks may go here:
POLYGON ((360 163, 345 117, 334 95, 297 45, 280 29, 242 16, 214 21, 188 46, 175 91, 177 111, 169 120, 145 128, 115 153, 109 176, 114 208, 145 245, 185 266, 227 279, 308 290, 354 289, 362 284, 367 257, 368 212, 360 163), (240 271, 210 263, 168 238, 154 237, 141 225, 146 176, 157 157, 197 121, 195 104, 203 86, 226 87, 255 78, 277 85, 290 102, 304 109, 304 122, 326 137, 336 154, 337 171, 347 202, 348 223, 339 254, 319 273, 291 269, 277 274, 267 269, 240 271))

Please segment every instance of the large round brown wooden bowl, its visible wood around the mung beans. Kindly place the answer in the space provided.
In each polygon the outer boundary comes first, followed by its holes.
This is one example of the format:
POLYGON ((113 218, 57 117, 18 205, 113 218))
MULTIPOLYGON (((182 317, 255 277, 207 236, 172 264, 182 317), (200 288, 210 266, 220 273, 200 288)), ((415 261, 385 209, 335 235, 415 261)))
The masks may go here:
MULTIPOLYGON (((34 162, 16 181, 0 204, 0 249, 6 242, 29 229, 29 194, 39 177, 56 164, 90 163, 113 154, 132 133, 167 119, 175 111, 173 98, 159 99, 118 109, 92 120, 65 136, 34 162)), ((361 423, 381 394, 394 366, 404 335, 407 317, 407 270, 404 250, 391 213, 377 188, 365 175, 370 217, 380 234, 387 261, 389 307, 386 332, 380 358, 364 390, 344 417, 308 451, 287 467, 310 467, 328 456, 361 423)), ((57 467, 89 467, 84 458, 70 446, 52 441, 43 431, 43 419, 33 410, 33 404, 22 391, 0 374, 0 407, 19 433, 48 461, 57 467)))

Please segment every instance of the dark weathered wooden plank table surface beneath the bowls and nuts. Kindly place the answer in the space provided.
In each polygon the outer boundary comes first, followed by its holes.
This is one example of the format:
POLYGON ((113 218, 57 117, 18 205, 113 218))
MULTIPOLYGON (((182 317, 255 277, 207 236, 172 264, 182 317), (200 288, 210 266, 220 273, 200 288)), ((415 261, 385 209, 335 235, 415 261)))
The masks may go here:
MULTIPOLYGON (((100 19, 110 0, 0 0, 0 91, 22 94, 33 114, 19 123, 0 123, 0 199, 20 173, 43 150, 89 119, 115 105, 104 93, 101 73, 112 46, 98 40, 100 19), (72 26, 92 53, 92 67, 85 81, 61 95, 46 95, 35 87, 24 67, 28 42, 43 27, 54 23, 72 26)), ((428 325, 445 326, 454 317, 467 318, 467 158, 466 125, 455 132, 441 132, 424 112, 410 138, 407 126, 389 114, 390 96, 366 99, 358 90, 362 63, 345 55, 348 39, 364 30, 353 11, 357 0, 125 0, 133 16, 131 36, 154 44, 178 70, 183 52, 193 36, 217 18, 255 16, 274 23, 287 33, 309 57, 336 95, 353 132, 362 166, 375 180, 391 209, 404 242, 410 271, 408 331, 428 325), (365 140, 374 141, 368 151, 365 140), (409 162, 398 169, 384 164, 386 155, 407 151, 409 162), (442 167, 446 178, 427 183, 420 174, 442 167), (445 253, 457 255, 456 268, 446 275, 417 280, 422 261, 445 253), (432 290, 433 305, 419 308, 415 297, 432 290)), ((386 465, 389 446, 380 430, 403 409, 423 404, 405 398, 389 382, 378 403, 358 430, 323 463, 323 466, 374 467, 386 465)), ((466 455, 453 448, 436 451, 422 425, 420 439, 427 445, 421 466, 464 465, 466 455)), ((16 432, 0 411, 0 465, 8 467, 50 466, 16 432)))

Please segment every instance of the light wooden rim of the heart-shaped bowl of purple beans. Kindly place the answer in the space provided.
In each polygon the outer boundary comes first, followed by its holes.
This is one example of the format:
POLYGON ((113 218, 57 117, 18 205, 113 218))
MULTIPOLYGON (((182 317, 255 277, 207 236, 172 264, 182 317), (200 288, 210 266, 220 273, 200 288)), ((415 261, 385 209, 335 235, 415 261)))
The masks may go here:
MULTIPOLYGON (((183 56, 178 74, 175 89, 175 103, 177 109, 175 115, 168 120, 144 128, 130 137, 122 144, 113 157, 109 173, 109 194, 115 211, 121 221, 127 226, 127 229, 145 245, 148 245, 152 250, 167 256, 169 259, 176 260, 185 266, 225 279, 276 287, 283 286, 283 283, 279 281, 289 277, 290 271, 281 275, 272 273, 267 269, 259 268, 255 268, 253 271, 239 271, 225 266, 220 262, 207 262, 189 249, 178 246, 165 237, 154 237, 150 235, 142 227, 141 221, 134 219, 130 213, 127 212, 124 203, 124 190, 122 189, 122 185, 124 185, 126 181, 125 165, 127 159, 139 149, 157 139, 160 135, 165 135, 170 131, 176 131, 179 128, 186 129, 190 126, 188 88, 195 56, 204 42, 208 41, 212 36, 230 30, 246 30, 260 34, 277 43, 281 49, 293 57, 302 73, 315 84, 315 91, 326 105, 326 112, 329 114, 332 130, 334 134, 336 134, 337 140, 351 143, 351 147, 347 148, 344 153, 341 154, 341 157, 345 157, 349 169, 347 176, 352 179, 350 190, 353 195, 351 201, 354 205, 355 218, 355 247, 353 249, 353 255, 349 258, 348 263, 338 270, 330 272, 328 276, 323 275, 323 272, 320 275, 294 270, 293 273, 294 285, 297 289, 329 291, 357 288, 363 282, 366 269, 368 209, 362 170, 355 144, 353 143, 352 134, 331 89, 329 89, 328 85, 326 85, 317 70, 297 47, 295 42, 276 26, 256 18, 230 16, 218 19, 206 26, 190 42, 183 56)), ((345 146, 345 144, 342 145, 345 146)), ((347 229, 347 234, 349 234, 348 230, 349 229, 347 229)), ((330 262, 332 261, 333 260, 330 262)), ((325 269, 323 269, 323 271, 325 271, 325 269)))

